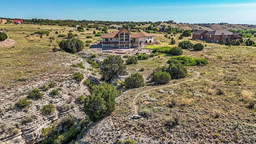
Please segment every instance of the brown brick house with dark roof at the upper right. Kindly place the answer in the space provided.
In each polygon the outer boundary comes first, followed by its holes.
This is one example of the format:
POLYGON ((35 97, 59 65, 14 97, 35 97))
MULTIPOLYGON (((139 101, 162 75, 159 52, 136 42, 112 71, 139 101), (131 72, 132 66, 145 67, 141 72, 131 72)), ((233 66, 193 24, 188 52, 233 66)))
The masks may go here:
POLYGON ((230 32, 228 30, 214 30, 214 31, 206 31, 206 30, 198 30, 193 32, 192 39, 204 40, 206 42, 220 43, 221 40, 224 40, 226 43, 227 40, 236 41, 242 39, 243 34, 240 32, 230 32))

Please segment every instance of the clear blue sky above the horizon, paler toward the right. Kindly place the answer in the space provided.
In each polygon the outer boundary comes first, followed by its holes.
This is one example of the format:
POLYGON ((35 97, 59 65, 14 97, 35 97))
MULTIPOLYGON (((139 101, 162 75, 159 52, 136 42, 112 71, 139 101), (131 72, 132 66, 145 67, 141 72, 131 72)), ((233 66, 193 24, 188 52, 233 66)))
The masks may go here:
POLYGON ((256 0, 1 0, 0 17, 256 24, 256 0))

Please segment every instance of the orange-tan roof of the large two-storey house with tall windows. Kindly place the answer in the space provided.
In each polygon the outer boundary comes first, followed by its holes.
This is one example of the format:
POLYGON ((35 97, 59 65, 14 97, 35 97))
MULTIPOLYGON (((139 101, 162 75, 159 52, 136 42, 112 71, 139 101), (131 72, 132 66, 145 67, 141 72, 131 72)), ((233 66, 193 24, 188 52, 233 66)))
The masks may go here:
MULTIPOLYGON (((129 32, 128 30, 126 30, 126 28, 120 28, 118 31, 104 34, 103 36, 101 36, 101 38, 118 38, 118 34, 120 34, 123 31, 129 32)), ((154 35, 149 34, 147 32, 140 32, 138 34, 130 33, 130 34, 131 34, 131 38, 140 38, 140 37, 154 36, 154 35)))

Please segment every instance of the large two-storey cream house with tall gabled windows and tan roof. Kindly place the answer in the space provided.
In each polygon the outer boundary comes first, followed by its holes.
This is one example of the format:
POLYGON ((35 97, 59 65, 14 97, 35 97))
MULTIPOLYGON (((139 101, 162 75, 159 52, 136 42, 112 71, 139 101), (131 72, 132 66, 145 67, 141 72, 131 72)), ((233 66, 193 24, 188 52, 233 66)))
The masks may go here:
POLYGON ((116 32, 110 32, 103 36, 102 47, 131 48, 137 47, 142 42, 154 41, 154 35, 147 32, 132 34, 126 28, 120 28, 116 32))

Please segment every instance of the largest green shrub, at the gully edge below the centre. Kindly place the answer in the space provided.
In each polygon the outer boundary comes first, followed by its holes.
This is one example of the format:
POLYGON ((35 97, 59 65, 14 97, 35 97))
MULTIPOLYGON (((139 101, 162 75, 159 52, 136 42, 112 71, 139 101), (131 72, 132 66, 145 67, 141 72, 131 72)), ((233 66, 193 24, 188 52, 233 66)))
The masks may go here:
POLYGON ((115 99, 120 94, 112 84, 103 82, 90 87, 90 95, 84 100, 84 112, 96 122, 115 109, 115 99))

